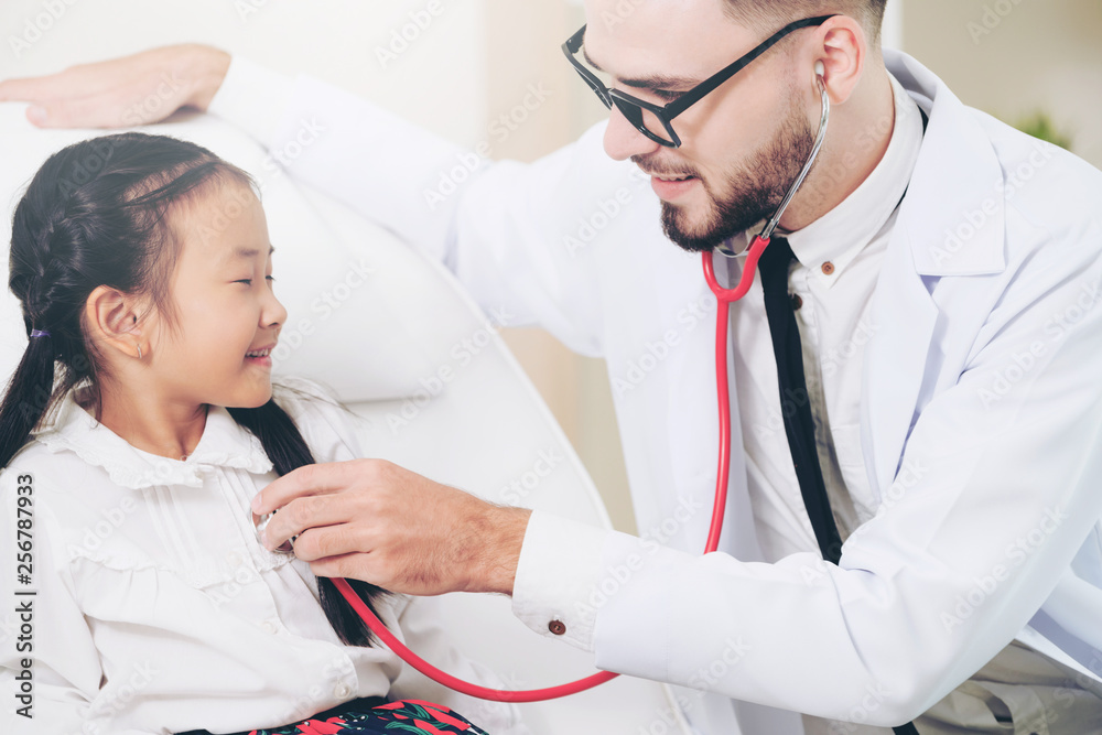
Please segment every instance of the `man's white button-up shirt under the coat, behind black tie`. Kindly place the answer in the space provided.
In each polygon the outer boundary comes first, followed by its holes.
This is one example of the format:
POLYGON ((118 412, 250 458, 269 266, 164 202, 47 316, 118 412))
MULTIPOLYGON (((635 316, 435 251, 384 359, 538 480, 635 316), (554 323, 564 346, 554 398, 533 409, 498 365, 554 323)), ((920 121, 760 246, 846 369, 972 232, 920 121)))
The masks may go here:
MULTIPOLYGON (((895 123, 876 167, 850 196, 815 221, 799 231, 777 233, 788 239, 797 258, 789 291, 802 302, 796 323, 815 423, 815 448, 843 541, 876 512, 858 435, 862 357, 872 333, 868 310, 880 261, 922 144, 918 106, 895 77, 888 78, 895 97, 895 123)), ((737 282, 743 262, 742 258, 727 260, 728 282, 737 282)), ((785 434, 781 411, 789 407, 778 398, 777 363, 760 274, 746 298, 732 305, 731 324, 750 504, 766 561, 777 561, 817 549, 818 543, 785 434)))

